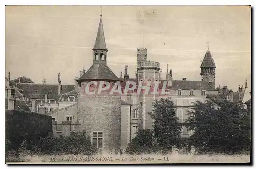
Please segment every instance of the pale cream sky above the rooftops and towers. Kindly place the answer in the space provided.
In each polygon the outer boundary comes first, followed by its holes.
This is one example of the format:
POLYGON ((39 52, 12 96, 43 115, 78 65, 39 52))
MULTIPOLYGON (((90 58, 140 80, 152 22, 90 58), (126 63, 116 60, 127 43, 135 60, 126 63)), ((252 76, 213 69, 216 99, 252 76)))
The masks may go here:
MULTIPOLYGON (((119 77, 124 65, 135 78, 137 48, 160 62, 173 79, 200 80, 209 49, 216 86, 237 90, 250 83, 251 14, 247 6, 102 6, 108 66, 119 77)), ((6 76, 35 83, 73 84, 93 63, 99 6, 6 6, 6 76)), ((250 84, 249 84, 250 86, 250 84)))

